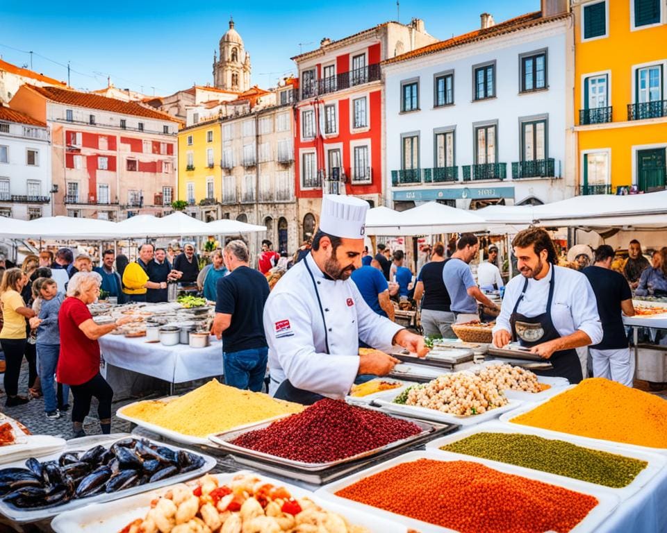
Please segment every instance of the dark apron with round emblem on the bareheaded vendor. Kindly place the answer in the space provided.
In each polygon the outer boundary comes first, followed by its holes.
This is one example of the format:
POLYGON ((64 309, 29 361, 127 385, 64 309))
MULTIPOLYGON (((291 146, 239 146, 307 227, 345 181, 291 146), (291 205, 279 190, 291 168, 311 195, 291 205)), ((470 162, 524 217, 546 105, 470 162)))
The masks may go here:
MULTIPOLYGON (((556 278, 556 268, 552 265, 551 280, 549 282, 549 298, 547 299, 547 310, 538 316, 525 316, 518 313, 516 310, 519 303, 522 301, 528 288, 528 278, 523 285, 523 291, 519 296, 511 316, 509 323, 512 327, 512 338, 514 341, 519 341, 521 346, 532 348, 543 342, 560 339, 561 335, 554 327, 551 319, 551 303, 554 298, 554 278, 556 278)), ((582 364, 579 361, 577 350, 570 348, 570 350, 560 350, 554 352, 549 359, 545 359, 552 364, 553 369, 536 370, 537 375, 545 375, 559 378, 566 378, 571 384, 579 383, 582 379, 582 364)))

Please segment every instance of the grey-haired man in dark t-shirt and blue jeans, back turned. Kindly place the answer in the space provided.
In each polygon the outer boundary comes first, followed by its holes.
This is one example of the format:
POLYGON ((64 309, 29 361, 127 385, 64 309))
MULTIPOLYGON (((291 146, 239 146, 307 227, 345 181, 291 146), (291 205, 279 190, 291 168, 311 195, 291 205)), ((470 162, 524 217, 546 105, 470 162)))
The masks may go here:
POLYGON ((268 357, 263 314, 269 284, 261 272, 250 268, 250 254, 244 242, 229 242, 223 255, 231 273, 217 282, 211 332, 223 339, 224 382, 259 392, 268 357))

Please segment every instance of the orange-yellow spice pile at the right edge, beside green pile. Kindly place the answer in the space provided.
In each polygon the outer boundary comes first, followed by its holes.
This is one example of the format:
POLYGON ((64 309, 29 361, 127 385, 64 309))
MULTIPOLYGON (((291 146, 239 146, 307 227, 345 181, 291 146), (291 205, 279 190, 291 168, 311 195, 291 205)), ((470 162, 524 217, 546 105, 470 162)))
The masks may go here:
POLYGON ((667 448, 667 401, 604 378, 584 380, 511 421, 593 439, 667 448))

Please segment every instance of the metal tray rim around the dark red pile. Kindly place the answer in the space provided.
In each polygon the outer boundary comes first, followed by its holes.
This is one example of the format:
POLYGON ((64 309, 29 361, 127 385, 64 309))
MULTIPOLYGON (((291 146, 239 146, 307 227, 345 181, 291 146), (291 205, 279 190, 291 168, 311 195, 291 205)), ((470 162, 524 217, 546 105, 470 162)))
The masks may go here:
POLYGON ((428 422, 413 420, 411 418, 406 418, 404 416, 393 416, 393 418, 400 418, 402 420, 412 422, 418 425, 422 429, 422 432, 413 435, 412 437, 401 439, 400 441, 390 442, 385 446, 381 446, 380 448, 374 448, 373 450, 368 450, 366 452, 358 453, 356 455, 351 455, 343 459, 336 459, 336 461, 329 461, 326 463, 304 463, 300 461, 293 461, 292 459, 286 459, 285 457, 270 455, 268 453, 258 452, 256 450, 250 450, 249 448, 242 448, 241 446, 236 446, 235 444, 231 443, 231 441, 233 441, 233 439, 236 439, 236 437, 238 437, 240 434, 267 428, 271 424, 270 422, 252 425, 243 430, 233 430, 233 431, 227 431, 223 433, 209 435, 208 438, 211 439, 212 442, 220 446, 220 448, 223 448, 226 452, 231 453, 231 455, 234 456, 253 457, 255 459, 261 459, 265 462, 280 464, 281 466, 286 466, 288 468, 298 468, 299 470, 302 471, 316 472, 316 471, 326 470, 327 468, 331 468, 332 466, 337 466, 339 464, 353 462, 356 461, 357 459, 364 459, 365 457, 373 457, 375 455, 381 454, 382 452, 393 450, 394 448, 397 448, 399 446, 409 446, 411 445, 411 443, 413 443, 413 441, 416 441, 421 437, 425 437, 426 435, 433 433, 436 429, 434 428, 433 424, 428 422))

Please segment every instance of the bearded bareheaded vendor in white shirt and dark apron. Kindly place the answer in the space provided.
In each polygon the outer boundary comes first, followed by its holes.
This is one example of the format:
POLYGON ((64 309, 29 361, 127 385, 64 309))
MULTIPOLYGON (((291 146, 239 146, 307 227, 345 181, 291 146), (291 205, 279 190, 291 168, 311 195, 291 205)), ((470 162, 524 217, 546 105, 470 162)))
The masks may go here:
POLYGON ((556 266, 556 248, 542 228, 522 230, 512 246, 522 276, 507 284, 493 344, 503 348, 518 341, 551 362, 553 369, 537 374, 579 383, 582 365, 575 348, 602 341, 591 284, 584 274, 556 266))

